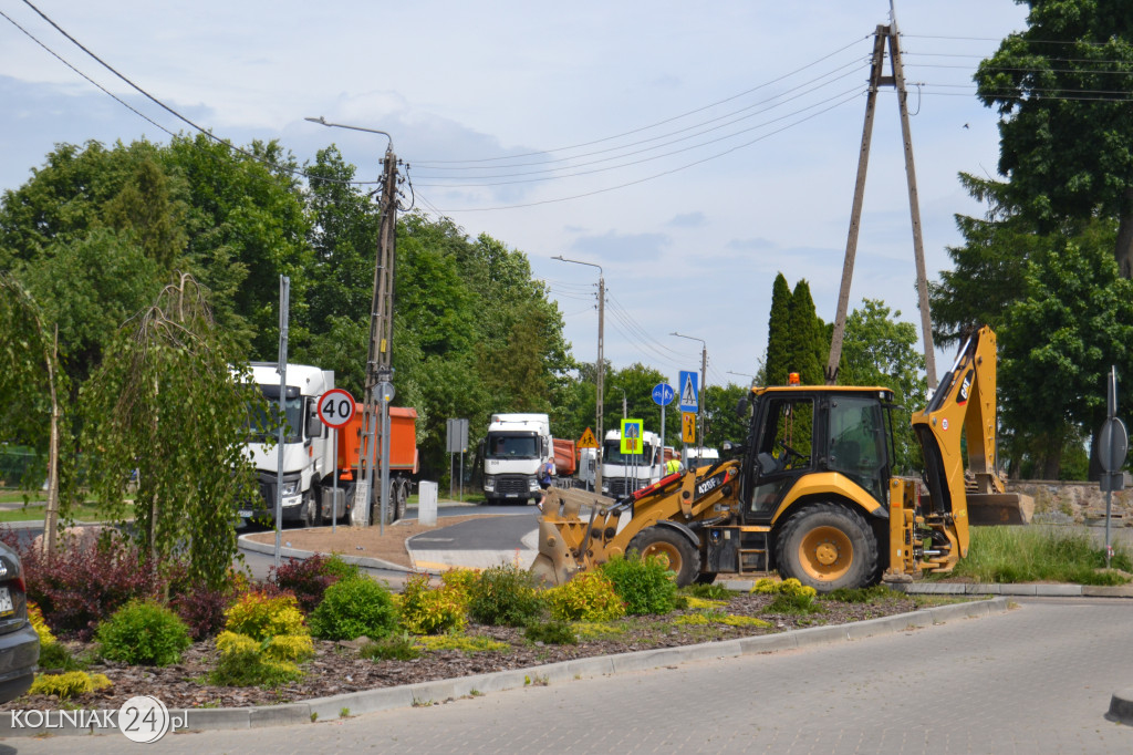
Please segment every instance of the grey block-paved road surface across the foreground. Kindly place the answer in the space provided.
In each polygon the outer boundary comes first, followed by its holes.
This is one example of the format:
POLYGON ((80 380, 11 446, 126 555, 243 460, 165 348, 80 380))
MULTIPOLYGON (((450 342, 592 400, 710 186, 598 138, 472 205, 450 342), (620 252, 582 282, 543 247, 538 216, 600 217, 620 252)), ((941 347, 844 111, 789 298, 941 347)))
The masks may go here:
MULTIPOLYGON (((1133 601, 1020 608, 898 635, 359 715, 167 736, 160 753, 1130 753, 1133 601)), ((6 740, 0 754, 126 740, 6 740)))

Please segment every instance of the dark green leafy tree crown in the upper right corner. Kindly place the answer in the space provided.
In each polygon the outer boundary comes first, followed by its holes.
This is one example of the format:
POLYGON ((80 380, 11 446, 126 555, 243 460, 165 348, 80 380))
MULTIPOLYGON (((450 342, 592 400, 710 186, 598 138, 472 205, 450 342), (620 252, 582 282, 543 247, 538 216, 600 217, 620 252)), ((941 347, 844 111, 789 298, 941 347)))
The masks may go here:
POLYGON ((976 74, 999 113, 999 171, 1043 234, 1064 219, 1119 219, 1114 257, 1133 277, 1133 6, 1023 0, 1028 28, 976 74))

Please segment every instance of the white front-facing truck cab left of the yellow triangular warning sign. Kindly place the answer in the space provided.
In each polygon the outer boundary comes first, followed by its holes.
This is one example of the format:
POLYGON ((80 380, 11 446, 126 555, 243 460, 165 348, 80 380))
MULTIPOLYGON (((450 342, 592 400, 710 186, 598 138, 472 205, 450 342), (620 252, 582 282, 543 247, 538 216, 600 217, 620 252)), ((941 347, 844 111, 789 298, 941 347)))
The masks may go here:
POLYGON ((547 415, 493 414, 482 448, 488 504, 522 506, 539 498, 539 470, 555 460, 547 415))

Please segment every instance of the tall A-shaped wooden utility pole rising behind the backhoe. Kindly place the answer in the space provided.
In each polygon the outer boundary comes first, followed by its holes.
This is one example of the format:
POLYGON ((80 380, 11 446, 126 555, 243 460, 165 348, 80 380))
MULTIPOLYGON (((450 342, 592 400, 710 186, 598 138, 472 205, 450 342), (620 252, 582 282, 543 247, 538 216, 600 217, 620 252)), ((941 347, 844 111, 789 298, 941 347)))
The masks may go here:
POLYGON ((936 388, 936 347, 932 343, 932 320, 928 307, 928 280, 925 272, 925 246, 921 240, 920 203, 917 197, 917 169, 913 163, 913 141, 909 128, 908 92, 904 68, 901 63, 901 46, 897 40, 897 24, 878 25, 874 32, 874 56, 869 70, 869 95, 866 99, 866 120, 861 135, 861 153, 858 156, 858 179, 854 185, 853 205, 850 211, 850 232, 846 253, 842 263, 842 287, 838 290, 838 308, 834 317, 834 336, 830 339, 830 358, 826 365, 826 384, 833 385, 838 375, 842 359, 842 339, 845 334, 846 311, 850 306, 850 282, 853 279, 854 258, 858 254, 858 231, 861 228, 861 205, 866 193, 866 173, 869 168, 869 147, 874 133, 874 111, 879 86, 893 86, 897 92, 901 111, 901 134, 905 152, 905 179, 909 186, 909 214, 913 227, 913 257, 917 264, 917 297, 921 315, 921 338, 925 342, 925 372, 929 389, 936 388), (889 46, 892 75, 884 76, 885 45, 889 46))

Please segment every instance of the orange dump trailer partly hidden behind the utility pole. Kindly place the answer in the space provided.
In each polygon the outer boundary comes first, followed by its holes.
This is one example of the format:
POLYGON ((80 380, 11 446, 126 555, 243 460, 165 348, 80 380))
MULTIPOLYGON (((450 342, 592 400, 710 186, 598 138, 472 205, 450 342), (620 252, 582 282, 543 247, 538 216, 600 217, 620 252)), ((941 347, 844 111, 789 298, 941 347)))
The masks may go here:
MULTIPOLYGON (((338 466, 339 466, 339 494, 340 515, 344 507, 349 512, 353 504, 355 476, 358 474, 358 456, 368 451, 366 433, 363 424, 365 415, 363 406, 355 407, 355 416, 350 422, 339 430, 338 466)), ((382 447, 378 444, 377 456, 381 459, 382 447)), ((417 453, 417 409, 411 407, 390 407, 390 510, 386 511, 386 520, 393 521, 406 516, 406 502, 412 487, 410 475, 416 475, 419 469, 419 457, 417 453)), ((380 464, 378 464, 380 466, 380 464)), ((378 485, 372 487, 370 500, 374 506, 370 521, 378 520, 378 508, 381 498, 377 491, 378 485)), ((325 511, 330 514, 330 499, 326 499, 325 511)))

